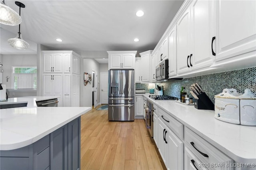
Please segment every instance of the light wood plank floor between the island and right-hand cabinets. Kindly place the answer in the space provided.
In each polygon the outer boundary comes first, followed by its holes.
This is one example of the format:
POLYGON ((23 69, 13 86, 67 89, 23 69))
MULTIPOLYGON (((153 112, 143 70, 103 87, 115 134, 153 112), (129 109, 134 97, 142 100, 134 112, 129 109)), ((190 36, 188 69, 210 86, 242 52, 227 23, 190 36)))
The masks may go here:
POLYGON ((96 109, 81 117, 81 170, 166 170, 142 119, 108 121, 96 109))

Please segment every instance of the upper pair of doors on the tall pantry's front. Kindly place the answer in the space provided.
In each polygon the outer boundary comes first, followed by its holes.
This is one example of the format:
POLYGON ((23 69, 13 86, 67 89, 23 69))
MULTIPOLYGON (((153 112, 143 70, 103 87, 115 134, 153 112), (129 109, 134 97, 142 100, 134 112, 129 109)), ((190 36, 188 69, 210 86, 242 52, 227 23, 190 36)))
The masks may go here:
POLYGON ((44 73, 62 73, 62 53, 43 54, 44 73))

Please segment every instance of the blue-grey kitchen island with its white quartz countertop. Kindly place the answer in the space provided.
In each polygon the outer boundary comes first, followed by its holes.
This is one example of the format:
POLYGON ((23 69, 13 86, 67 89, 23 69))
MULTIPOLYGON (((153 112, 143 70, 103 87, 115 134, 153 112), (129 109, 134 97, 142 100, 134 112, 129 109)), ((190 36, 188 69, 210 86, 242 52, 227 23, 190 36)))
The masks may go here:
POLYGON ((11 98, 28 105, 0 110, 0 169, 80 168, 80 116, 91 107, 36 106, 50 98, 11 98))

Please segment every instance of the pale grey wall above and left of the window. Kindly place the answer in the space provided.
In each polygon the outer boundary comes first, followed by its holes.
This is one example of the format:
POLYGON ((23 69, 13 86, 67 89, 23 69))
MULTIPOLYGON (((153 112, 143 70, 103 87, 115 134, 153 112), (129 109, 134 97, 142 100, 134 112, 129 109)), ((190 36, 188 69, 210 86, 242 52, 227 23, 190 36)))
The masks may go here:
POLYGON ((6 89, 12 89, 12 66, 37 66, 37 56, 36 55, 1 55, 1 63, 3 64, 3 84, 6 85, 6 89), (6 76, 10 79, 6 81, 6 76))

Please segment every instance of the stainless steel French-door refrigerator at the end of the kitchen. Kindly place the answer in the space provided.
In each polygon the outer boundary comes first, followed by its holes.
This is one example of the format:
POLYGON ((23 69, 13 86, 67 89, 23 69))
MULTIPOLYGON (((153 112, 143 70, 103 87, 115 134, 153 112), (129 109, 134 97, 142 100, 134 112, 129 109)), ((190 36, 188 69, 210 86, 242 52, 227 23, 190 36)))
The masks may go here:
POLYGON ((108 71, 108 120, 134 121, 134 70, 108 71))

